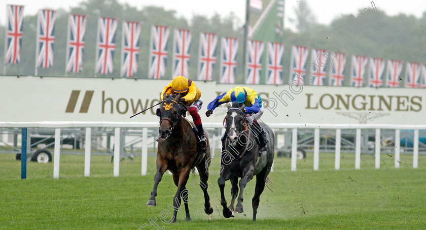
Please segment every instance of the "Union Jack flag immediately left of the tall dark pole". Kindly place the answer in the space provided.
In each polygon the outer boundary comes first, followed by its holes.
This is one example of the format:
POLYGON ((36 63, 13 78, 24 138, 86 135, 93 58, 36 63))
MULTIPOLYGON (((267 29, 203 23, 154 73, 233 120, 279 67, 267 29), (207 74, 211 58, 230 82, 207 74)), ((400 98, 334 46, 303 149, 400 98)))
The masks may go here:
POLYGON ((222 38, 221 83, 235 83, 238 39, 222 38))

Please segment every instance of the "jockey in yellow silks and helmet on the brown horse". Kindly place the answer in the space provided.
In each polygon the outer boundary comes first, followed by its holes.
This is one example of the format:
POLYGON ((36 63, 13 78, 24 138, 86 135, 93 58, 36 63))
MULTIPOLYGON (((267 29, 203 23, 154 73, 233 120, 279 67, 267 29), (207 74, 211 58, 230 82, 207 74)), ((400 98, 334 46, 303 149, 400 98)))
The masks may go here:
POLYGON ((201 124, 201 117, 198 114, 198 111, 203 105, 203 101, 201 100, 201 91, 193 81, 182 76, 177 76, 166 87, 164 87, 163 92, 161 93, 161 100, 163 100, 164 93, 166 93, 166 95, 181 93, 182 96, 179 99, 179 102, 182 102, 187 107, 188 112, 198 129, 198 137, 200 137, 201 140, 201 150, 206 151, 207 144, 204 129, 201 124))

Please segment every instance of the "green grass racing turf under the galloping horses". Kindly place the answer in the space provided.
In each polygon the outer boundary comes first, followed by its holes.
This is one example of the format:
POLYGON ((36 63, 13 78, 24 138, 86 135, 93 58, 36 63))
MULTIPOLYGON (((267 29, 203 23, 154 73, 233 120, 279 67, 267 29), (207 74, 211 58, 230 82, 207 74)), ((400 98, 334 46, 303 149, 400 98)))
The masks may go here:
MULTIPOLYGON (((313 171, 312 153, 290 170, 289 158, 275 158, 272 184, 261 195, 258 221, 252 222, 255 179, 244 190, 244 214, 225 219, 220 206, 218 176, 210 176, 211 220, 196 194, 189 205, 191 222, 179 213, 177 223, 164 224, 163 210, 170 210, 176 187, 167 173, 157 196, 157 206, 147 207, 155 173, 149 157, 148 176, 140 176, 140 157, 120 163, 113 177, 109 156, 92 156, 91 176, 84 177, 83 155, 61 155, 60 179, 53 179, 53 163, 28 162, 27 179, 20 179, 20 161, 13 154, 0 160, 0 229, 138 229, 157 218, 165 229, 424 229, 426 226, 426 156, 412 168, 412 155, 401 155, 395 169, 392 154, 382 154, 380 169, 374 157, 361 156, 361 170, 354 169, 354 154, 345 153, 341 170, 334 170, 334 154, 320 153, 319 171, 313 171)), ((212 171, 219 159, 212 160, 212 171)), ((189 181, 199 178, 190 176, 189 181)), ((198 188, 198 186, 197 186, 198 188)), ((226 198, 230 202, 230 182, 226 198)), ((147 226, 143 229, 156 229, 147 226)))

